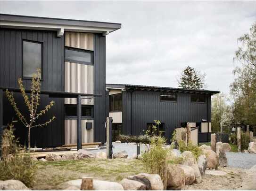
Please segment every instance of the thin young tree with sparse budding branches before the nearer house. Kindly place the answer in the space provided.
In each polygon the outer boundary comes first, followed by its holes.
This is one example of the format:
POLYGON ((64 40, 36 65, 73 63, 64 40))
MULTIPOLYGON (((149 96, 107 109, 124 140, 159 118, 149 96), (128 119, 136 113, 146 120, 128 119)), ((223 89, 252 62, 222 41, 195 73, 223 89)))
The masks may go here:
POLYGON ((30 130, 34 127, 43 127, 48 125, 50 122, 55 120, 55 116, 50 118, 49 121, 44 122, 42 124, 35 124, 35 122, 38 120, 38 118, 42 115, 44 115, 53 105, 54 101, 50 101, 50 104, 47 105, 43 110, 41 110, 39 113, 37 113, 37 109, 39 106, 39 100, 40 100, 40 88, 41 88, 41 82, 40 82, 40 76, 41 76, 41 70, 37 69, 37 75, 33 75, 32 77, 32 83, 31 83, 31 94, 30 98, 25 93, 25 88, 22 83, 22 79, 18 79, 18 84, 20 87, 20 91, 22 93, 22 96, 25 101, 25 105, 27 106, 29 117, 23 115, 19 108, 17 107, 17 103, 15 102, 13 92, 9 92, 6 90, 7 98, 11 104, 11 106, 14 108, 17 117, 19 120, 24 124, 25 127, 28 128, 28 150, 30 151, 30 130))

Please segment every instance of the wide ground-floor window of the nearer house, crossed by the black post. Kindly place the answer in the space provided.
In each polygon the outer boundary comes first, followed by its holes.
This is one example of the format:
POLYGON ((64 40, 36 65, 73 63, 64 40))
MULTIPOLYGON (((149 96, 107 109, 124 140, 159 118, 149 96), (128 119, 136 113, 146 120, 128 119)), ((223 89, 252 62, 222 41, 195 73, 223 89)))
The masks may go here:
MULTIPOLYGON (((65 105, 65 116, 66 117, 76 117, 76 105, 65 105)), ((81 115, 83 118, 93 118, 93 106, 82 105, 81 115)))

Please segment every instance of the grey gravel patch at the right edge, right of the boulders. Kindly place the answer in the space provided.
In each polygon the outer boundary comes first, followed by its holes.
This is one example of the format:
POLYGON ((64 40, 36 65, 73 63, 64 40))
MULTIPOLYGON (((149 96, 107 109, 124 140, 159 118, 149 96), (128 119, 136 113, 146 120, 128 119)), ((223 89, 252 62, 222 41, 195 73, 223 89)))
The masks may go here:
POLYGON ((227 152, 228 166, 234 168, 251 168, 256 165, 256 154, 227 152))

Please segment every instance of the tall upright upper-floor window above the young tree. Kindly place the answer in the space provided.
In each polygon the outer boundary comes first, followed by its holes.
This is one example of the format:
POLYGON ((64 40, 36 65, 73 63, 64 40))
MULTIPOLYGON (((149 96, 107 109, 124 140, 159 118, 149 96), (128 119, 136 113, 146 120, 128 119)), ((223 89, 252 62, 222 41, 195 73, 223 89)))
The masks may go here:
POLYGON ((23 40, 23 77, 33 77, 33 74, 36 74, 36 70, 41 69, 41 66, 42 43, 23 40))

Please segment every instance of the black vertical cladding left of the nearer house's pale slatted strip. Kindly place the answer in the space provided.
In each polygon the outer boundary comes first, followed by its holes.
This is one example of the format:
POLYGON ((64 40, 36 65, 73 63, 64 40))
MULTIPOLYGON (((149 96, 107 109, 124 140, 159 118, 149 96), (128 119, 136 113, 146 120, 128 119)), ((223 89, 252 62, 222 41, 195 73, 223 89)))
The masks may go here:
MULTIPOLYGON (((43 43, 43 80, 42 90, 64 91, 64 37, 57 37, 56 31, 34 31, 0 28, 0 86, 18 88, 17 80, 22 78, 22 44, 23 39, 43 43)), ((31 80, 23 79, 26 89, 30 89, 31 80)), ((26 110, 22 95, 15 93, 15 98, 21 111, 26 110)), ((56 120, 43 128, 33 128, 31 145, 50 147, 64 144, 64 99, 41 96, 39 109, 45 107, 51 100, 55 105, 41 118, 41 122, 52 115, 56 120)), ((4 96, 3 115, 5 123, 12 118, 17 120, 13 108, 4 96)), ((15 123, 16 135, 20 143, 27 143, 27 129, 20 123, 15 123)))

